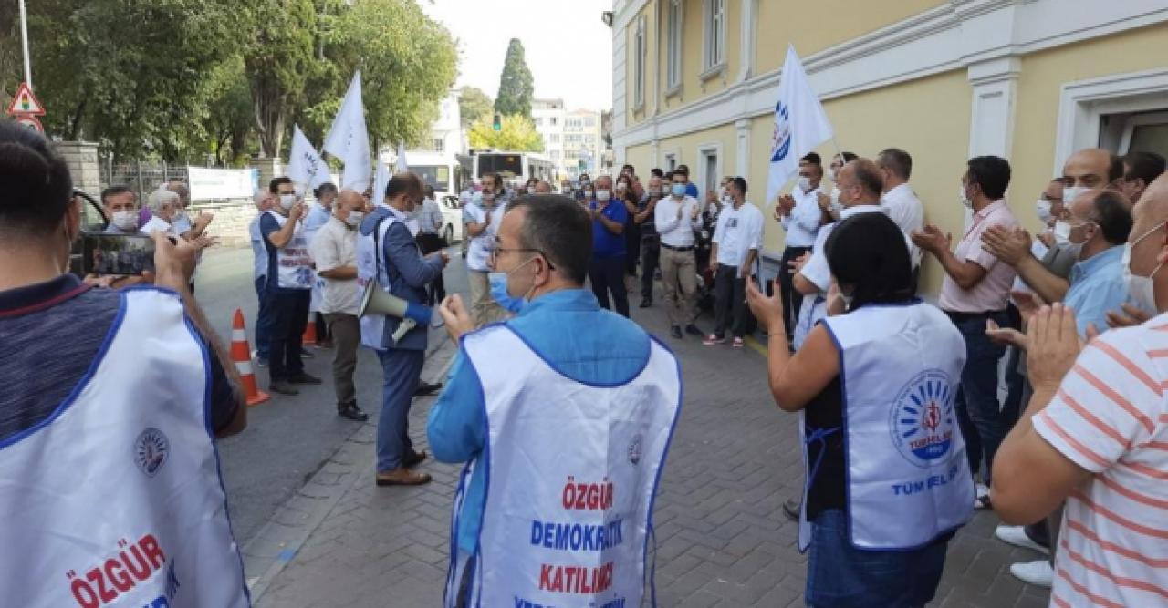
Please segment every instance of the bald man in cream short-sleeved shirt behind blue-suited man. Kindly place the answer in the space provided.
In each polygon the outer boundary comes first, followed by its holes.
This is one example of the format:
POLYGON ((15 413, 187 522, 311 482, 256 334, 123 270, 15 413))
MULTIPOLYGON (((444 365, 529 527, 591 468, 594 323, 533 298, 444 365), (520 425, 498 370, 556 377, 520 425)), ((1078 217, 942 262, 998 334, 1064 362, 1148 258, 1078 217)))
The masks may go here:
POLYGON ((333 204, 333 214, 312 239, 310 251, 317 264, 317 277, 324 279, 320 313, 333 336, 333 386, 336 391, 336 414, 363 422, 369 419, 357 406, 353 372, 357 366, 361 326, 361 288, 357 286, 357 226, 364 218, 366 201, 361 193, 343 189, 333 204))

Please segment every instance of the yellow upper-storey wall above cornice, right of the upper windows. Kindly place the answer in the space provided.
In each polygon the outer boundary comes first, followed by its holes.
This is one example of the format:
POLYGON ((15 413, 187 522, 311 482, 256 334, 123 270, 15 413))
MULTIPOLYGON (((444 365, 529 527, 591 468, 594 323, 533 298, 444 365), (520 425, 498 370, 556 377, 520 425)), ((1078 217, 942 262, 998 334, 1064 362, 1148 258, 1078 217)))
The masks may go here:
MULTIPOLYGON (((741 0, 731 1, 731 4, 739 2, 741 0)), ((884 0, 875 2, 760 0, 758 2, 758 43, 755 47, 755 74, 766 74, 781 68, 783 58, 787 53, 787 42, 795 46, 800 57, 806 57, 945 4, 948 2, 944 0, 884 0)))

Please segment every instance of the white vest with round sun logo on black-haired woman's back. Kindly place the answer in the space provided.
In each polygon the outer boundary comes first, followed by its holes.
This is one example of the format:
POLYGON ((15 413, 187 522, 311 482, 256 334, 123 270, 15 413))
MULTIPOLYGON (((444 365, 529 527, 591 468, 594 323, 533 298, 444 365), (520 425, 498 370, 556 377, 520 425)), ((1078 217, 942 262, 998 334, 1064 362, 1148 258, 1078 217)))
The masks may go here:
POLYGON ((841 350, 851 545, 916 548, 964 525, 974 485, 953 408, 961 334, 919 302, 823 322, 841 350))

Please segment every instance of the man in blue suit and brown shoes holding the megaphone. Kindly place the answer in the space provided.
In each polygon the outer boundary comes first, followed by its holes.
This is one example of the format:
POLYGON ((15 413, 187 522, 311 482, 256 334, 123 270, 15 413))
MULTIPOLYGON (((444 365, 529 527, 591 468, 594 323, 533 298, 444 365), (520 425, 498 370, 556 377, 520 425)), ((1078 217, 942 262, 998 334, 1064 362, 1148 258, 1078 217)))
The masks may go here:
MULTIPOLYGON (((384 198, 361 223, 357 279, 402 300, 424 305, 426 286, 442 274, 443 251, 422 256, 406 224, 406 214, 422 207, 422 180, 399 173, 389 180, 384 198)), ((361 319, 361 342, 377 351, 384 372, 381 418, 377 420, 377 485, 418 485, 430 475, 411 470, 426 459, 413 449, 409 434, 410 403, 425 361, 429 323, 419 323, 401 340, 392 338, 401 320, 387 315, 361 319)))

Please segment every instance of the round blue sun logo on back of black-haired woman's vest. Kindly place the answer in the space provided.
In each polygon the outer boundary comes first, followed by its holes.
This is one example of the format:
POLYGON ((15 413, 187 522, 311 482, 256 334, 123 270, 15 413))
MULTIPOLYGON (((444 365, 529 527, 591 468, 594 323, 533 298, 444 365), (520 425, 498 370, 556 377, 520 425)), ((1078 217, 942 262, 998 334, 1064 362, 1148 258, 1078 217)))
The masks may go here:
POLYGON ((892 443, 905 460, 925 468, 953 447, 953 399, 948 377, 925 370, 901 389, 889 417, 892 443))

